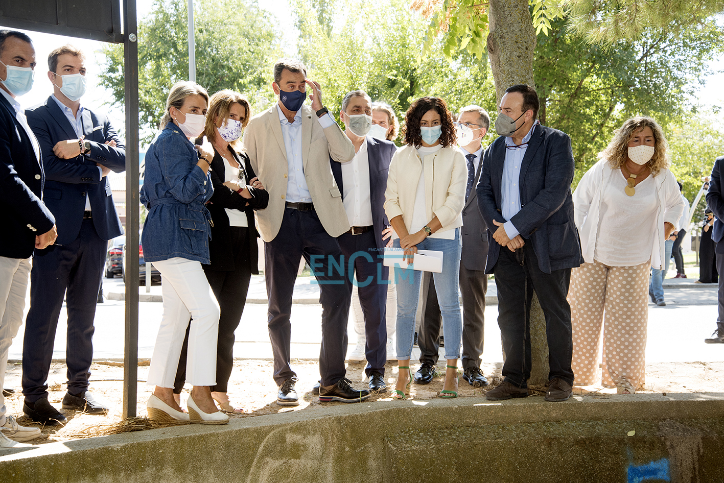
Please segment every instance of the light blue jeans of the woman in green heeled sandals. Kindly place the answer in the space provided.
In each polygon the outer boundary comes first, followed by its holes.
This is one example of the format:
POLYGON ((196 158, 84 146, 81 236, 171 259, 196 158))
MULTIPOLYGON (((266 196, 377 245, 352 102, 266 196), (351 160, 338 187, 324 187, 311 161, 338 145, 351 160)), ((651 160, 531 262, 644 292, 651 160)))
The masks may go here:
MULTIPOLYGON (((460 228, 455 228, 455 239, 426 238, 417 244, 421 250, 442 252, 442 273, 433 273, 437 302, 442 314, 442 334, 445 336, 445 359, 460 359, 460 341, 463 337, 463 317, 460 314, 458 281, 460 278, 460 228)), ((400 248, 400 239, 395 239, 400 248)), ((414 259, 413 259, 414 260, 414 259)), ((419 270, 395 267, 397 289, 397 359, 412 357, 415 336, 415 313, 420 295, 419 270)))

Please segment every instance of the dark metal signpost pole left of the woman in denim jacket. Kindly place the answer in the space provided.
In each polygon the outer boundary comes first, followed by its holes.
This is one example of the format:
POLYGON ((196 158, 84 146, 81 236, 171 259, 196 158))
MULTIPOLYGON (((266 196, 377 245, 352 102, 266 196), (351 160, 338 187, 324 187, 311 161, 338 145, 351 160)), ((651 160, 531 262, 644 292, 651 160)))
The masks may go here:
POLYGON ((126 108, 126 304, 123 417, 136 415, 138 391, 138 25, 136 0, 123 0, 126 108))

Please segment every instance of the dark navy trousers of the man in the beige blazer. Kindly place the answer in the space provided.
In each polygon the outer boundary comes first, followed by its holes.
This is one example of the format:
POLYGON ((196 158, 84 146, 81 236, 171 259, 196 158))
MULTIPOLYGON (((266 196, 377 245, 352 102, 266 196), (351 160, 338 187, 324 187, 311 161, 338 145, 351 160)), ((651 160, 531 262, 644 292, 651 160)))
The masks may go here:
POLYGON ((292 337, 292 293, 301 257, 319 283, 321 304, 321 351, 319 375, 322 385, 333 385, 345 377, 347 322, 351 296, 345 286, 346 268, 337 239, 324 230, 316 211, 285 208, 282 226, 271 242, 264 244, 266 294, 269 296, 269 340, 274 354, 277 385, 296 377, 290 364, 292 337))

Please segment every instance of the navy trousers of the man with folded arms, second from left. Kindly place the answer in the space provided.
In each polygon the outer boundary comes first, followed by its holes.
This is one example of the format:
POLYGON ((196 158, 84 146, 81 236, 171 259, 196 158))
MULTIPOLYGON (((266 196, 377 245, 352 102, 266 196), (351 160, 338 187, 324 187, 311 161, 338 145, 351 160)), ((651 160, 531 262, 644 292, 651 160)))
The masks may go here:
POLYGON ((22 393, 34 403, 48 397, 58 317, 65 296, 68 312, 66 365, 68 392, 88 390, 93 362, 93 319, 106 262, 107 242, 87 218, 77 238, 67 245, 35 250, 30 272, 30 311, 22 346, 22 393))

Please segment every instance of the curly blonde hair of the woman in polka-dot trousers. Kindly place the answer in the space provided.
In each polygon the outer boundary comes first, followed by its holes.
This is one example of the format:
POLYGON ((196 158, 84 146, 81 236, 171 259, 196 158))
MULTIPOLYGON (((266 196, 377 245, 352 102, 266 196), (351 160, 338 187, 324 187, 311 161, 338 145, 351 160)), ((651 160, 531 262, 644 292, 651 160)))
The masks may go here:
POLYGON ((669 156, 666 152, 669 143, 666 141, 664 131, 653 118, 647 116, 636 116, 626 119, 623 126, 616 129, 613 139, 605 150, 598 153, 599 159, 606 159, 612 169, 618 169, 626 163, 628 159, 628 142, 636 134, 644 128, 650 127, 654 133, 654 155, 646 163, 651 169, 652 176, 656 176, 662 169, 668 169, 670 166, 669 156))

